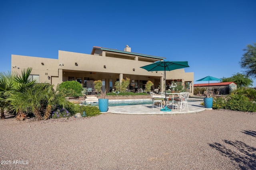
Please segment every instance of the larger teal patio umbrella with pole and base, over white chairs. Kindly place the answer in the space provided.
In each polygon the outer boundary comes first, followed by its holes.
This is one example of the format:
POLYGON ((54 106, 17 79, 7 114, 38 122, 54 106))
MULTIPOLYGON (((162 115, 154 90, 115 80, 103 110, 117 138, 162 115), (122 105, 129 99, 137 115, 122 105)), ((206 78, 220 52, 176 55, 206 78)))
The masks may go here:
MULTIPOLYGON (((147 71, 164 71, 164 81, 166 84, 166 71, 176 70, 179 68, 185 68, 189 67, 187 61, 157 61, 152 64, 148 64, 146 66, 142 66, 140 68, 144 68, 147 71)), ((166 87, 164 87, 164 92, 166 94, 166 87)), ((166 103, 166 97, 165 97, 165 103, 166 103)), ((161 109, 161 111, 172 111, 171 109, 167 108, 165 105, 165 108, 161 109)))

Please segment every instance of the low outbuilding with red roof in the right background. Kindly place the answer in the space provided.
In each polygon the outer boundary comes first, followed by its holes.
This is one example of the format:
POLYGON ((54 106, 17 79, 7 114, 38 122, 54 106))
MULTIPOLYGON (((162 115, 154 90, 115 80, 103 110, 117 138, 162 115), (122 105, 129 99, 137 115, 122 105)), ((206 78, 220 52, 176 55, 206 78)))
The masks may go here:
POLYGON ((237 85, 234 82, 194 84, 194 88, 197 86, 206 88, 206 91, 213 90, 216 94, 230 94, 231 91, 237 89, 237 85))

